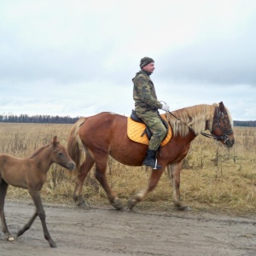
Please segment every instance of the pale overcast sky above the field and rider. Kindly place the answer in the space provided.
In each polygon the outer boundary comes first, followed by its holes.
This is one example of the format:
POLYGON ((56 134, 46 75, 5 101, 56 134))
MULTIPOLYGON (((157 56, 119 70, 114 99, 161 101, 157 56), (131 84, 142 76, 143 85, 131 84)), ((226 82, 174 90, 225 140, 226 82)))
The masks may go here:
POLYGON ((256 120, 255 39, 254 0, 2 0, 0 113, 130 115, 150 56, 171 110, 223 101, 256 120))

